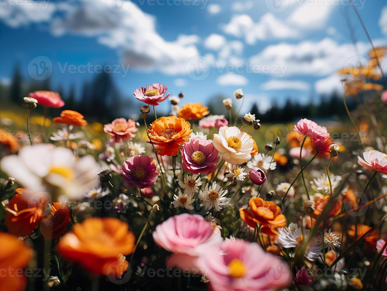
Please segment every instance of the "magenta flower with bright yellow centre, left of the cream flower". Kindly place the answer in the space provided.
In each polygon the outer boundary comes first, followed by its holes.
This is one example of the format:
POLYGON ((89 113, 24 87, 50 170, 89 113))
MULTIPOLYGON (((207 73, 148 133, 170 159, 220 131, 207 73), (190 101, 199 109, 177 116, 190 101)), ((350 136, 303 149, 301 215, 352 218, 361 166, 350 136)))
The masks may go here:
POLYGON ((182 168, 192 174, 208 175, 217 168, 218 153, 212 141, 193 138, 183 145, 182 168))

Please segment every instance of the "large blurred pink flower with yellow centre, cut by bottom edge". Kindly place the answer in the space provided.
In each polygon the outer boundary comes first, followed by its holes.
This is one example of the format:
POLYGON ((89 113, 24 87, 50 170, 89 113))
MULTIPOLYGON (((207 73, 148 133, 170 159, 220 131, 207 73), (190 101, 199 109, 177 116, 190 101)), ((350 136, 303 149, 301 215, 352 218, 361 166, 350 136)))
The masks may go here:
POLYGON ((214 291, 269 290, 286 287, 291 282, 285 262, 265 252, 258 243, 241 239, 205 248, 195 264, 214 291))

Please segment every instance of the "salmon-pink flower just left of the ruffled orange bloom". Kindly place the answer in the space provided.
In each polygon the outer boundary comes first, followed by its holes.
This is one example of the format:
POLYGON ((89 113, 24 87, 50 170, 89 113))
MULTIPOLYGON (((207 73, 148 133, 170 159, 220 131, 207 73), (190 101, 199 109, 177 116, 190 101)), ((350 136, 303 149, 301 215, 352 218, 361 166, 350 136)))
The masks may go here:
POLYGON ((132 119, 116 118, 111 123, 103 126, 105 133, 113 136, 110 141, 112 143, 118 143, 123 140, 134 138, 134 132, 137 131, 136 123, 132 119))

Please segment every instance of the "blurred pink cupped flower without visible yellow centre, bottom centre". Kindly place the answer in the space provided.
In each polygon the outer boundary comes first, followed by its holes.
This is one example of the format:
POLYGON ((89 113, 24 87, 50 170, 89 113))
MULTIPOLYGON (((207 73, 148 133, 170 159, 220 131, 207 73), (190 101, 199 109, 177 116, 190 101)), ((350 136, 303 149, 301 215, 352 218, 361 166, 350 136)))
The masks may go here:
POLYGON ((201 215, 183 213, 156 226, 153 240, 159 247, 174 253, 168 258, 167 266, 192 270, 195 267, 193 260, 222 238, 201 215))

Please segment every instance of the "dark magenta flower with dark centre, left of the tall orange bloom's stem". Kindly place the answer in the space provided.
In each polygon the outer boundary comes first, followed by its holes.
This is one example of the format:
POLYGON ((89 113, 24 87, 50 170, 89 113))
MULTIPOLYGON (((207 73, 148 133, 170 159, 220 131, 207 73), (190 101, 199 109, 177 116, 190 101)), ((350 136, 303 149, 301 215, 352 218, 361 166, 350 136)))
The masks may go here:
POLYGON ((123 180, 131 187, 152 187, 159 175, 153 158, 146 155, 138 155, 128 158, 121 166, 123 180))

